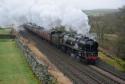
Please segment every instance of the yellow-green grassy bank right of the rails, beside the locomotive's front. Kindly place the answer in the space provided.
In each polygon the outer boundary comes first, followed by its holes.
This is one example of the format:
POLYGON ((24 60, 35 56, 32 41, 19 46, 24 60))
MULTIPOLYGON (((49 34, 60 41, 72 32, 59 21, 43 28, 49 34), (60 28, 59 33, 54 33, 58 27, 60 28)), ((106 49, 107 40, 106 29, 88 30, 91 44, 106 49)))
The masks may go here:
POLYGON ((119 59, 117 57, 110 58, 103 54, 102 52, 99 52, 99 57, 104 62, 110 64, 111 66, 115 67, 119 71, 125 72, 125 61, 122 59, 119 59))

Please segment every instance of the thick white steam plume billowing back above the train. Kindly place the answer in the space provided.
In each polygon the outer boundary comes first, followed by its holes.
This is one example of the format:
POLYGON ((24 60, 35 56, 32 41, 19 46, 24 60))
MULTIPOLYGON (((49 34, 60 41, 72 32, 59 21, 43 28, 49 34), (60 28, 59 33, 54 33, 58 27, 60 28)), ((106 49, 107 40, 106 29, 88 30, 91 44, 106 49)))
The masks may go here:
POLYGON ((87 34, 88 17, 80 9, 51 0, 3 0, 0 2, 0 25, 21 25, 32 22, 46 29, 65 26, 87 34))

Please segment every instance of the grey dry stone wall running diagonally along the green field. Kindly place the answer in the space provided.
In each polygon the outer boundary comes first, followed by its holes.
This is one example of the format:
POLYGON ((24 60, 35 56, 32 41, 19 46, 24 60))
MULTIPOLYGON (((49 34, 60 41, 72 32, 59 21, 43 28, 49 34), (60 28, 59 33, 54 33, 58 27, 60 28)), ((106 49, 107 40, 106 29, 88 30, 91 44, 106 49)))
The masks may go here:
POLYGON ((24 53, 24 56, 31 66, 33 73, 41 81, 41 84, 55 84, 56 79, 48 73, 48 67, 41 61, 38 60, 35 54, 27 47, 27 45, 21 43, 19 37, 16 37, 16 43, 24 53))

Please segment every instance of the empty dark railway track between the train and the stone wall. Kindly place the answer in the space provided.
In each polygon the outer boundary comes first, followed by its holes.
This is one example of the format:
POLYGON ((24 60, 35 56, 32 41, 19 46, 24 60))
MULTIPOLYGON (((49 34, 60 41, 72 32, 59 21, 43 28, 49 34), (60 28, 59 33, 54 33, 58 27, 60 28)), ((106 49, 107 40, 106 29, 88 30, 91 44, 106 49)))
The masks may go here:
POLYGON ((65 75, 67 75, 74 84, 120 84, 119 82, 100 74, 95 69, 79 63, 72 57, 67 57, 57 48, 51 46, 38 36, 25 31, 25 37, 30 41, 37 43, 38 49, 44 53, 48 59, 55 64, 65 75))

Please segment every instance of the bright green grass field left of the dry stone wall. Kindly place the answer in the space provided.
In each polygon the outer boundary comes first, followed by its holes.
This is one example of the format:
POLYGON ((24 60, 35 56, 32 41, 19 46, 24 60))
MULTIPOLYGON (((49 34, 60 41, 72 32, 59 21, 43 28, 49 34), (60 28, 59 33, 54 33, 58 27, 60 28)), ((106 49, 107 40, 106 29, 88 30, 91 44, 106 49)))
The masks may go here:
MULTIPOLYGON (((0 29, 0 33, 5 30, 0 29)), ((13 39, 0 39, 0 84, 38 83, 16 42, 13 39)))

